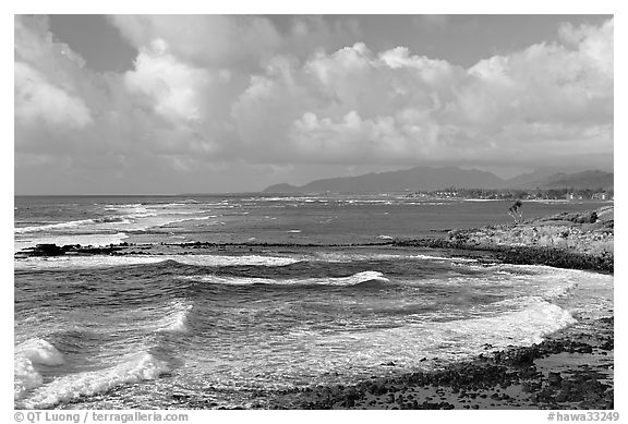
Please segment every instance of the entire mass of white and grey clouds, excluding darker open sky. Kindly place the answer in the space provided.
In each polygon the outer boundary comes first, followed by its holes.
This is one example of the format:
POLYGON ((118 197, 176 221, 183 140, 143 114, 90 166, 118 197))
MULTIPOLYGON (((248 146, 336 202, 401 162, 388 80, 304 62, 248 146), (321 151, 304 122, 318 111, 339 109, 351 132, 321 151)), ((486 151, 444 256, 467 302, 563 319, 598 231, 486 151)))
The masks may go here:
POLYGON ((354 43, 351 20, 110 20, 138 50, 125 73, 89 70, 46 19, 16 16, 16 168, 184 180, 235 162, 254 175, 613 155, 613 20, 561 25, 554 43, 470 68, 402 46, 373 51, 354 43))

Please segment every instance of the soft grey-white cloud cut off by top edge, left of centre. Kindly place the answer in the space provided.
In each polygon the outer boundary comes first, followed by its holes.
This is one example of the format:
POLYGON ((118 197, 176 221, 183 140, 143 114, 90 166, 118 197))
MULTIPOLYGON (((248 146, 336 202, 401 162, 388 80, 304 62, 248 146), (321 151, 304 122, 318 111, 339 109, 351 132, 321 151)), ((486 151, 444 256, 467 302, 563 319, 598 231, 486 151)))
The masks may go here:
POLYGON ((354 39, 351 20, 329 24, 319 16, 294 17, 279 31, 264 16, 114 15, 110 22, 138 49, 162 39, 172 53, 203 66, 255 70, 278 53, 307 54, 322 45, 354 39))

